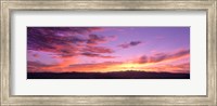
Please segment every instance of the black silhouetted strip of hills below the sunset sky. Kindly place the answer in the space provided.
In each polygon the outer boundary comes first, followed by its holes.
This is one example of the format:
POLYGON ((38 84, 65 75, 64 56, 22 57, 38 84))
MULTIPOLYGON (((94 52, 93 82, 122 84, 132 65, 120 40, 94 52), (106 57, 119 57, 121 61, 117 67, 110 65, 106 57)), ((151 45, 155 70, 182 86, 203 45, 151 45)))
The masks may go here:
POLYGON ((190 79, 190 74, 112 71, 112 72, 27 72, 27 79, 190 79))

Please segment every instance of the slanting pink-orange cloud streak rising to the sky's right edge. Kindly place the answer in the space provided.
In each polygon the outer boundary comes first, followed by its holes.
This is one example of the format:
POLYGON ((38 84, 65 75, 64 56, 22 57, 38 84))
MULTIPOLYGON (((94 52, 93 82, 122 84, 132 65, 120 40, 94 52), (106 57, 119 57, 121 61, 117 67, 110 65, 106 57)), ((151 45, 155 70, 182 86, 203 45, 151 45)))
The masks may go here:
POLYGON ((186 49, 186 50, 179 50, 174 53, 156 53, 152 56, 143 55, 137 62, 140 64, 158 63, 158 62, 168 61, 168 59, 177 59, 189 54, 190 54, 190 50, 186 49))

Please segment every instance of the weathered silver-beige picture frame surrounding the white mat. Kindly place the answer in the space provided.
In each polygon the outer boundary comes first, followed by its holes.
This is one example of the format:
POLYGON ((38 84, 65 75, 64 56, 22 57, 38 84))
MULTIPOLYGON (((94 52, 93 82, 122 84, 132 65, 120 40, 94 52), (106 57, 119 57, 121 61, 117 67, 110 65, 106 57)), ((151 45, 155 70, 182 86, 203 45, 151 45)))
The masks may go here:
POLYGON ((217 105, 216 0, 1 0, 1 102, 8 105, 217 105), (11 95, 11 13, 13 11, 206 11, 206 95, 11 95))

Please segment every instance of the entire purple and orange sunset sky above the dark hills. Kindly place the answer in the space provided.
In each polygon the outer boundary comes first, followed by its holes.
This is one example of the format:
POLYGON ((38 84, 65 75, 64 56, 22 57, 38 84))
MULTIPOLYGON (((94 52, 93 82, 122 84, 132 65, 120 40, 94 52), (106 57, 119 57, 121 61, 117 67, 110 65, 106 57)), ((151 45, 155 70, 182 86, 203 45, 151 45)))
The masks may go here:
POLYGON ((28 72, 190 74, 190 27, 27 27, 28 72))

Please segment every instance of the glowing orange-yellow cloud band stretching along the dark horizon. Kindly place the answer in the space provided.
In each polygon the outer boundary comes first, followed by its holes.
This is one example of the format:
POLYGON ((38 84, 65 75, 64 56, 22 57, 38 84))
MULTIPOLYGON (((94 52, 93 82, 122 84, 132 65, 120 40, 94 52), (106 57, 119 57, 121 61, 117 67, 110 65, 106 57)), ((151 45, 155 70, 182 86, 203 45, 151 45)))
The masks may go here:
POLYGON ((33 63, 28 65, 28 68, 34 70, 41 71, 52 71, 52 72, 107 72, 107 71, 126 71, 126 70, 136 70, 136 71, 167 71, 167 72, 189 72, 190 63, 178 64, 178 65, 154 65, 150 64, 138 64, 138 63, 122 63, 122 62, 104 62, 95 64, 76 64, 72 59, 65 59, 59 65, 42 65, 39 63, 33 63), (74 64, 72 64, 74 63, 74 64), (33 67, 30 67, 33 66, 33 67))

